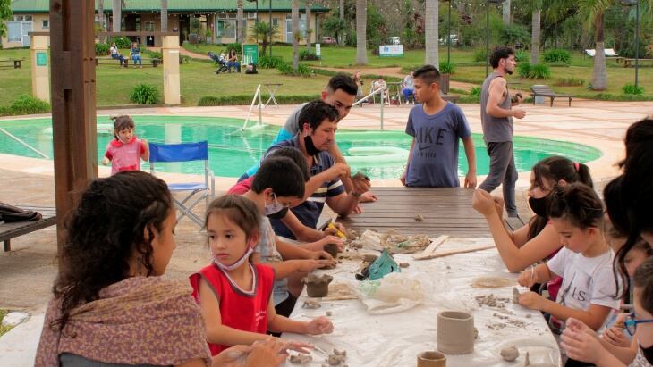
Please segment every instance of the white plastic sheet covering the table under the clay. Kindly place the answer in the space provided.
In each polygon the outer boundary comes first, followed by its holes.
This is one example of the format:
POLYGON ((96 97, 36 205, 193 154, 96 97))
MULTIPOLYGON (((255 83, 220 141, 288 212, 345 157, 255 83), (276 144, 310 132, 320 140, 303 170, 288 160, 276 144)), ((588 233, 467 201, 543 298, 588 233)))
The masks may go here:
MULTIPOLYGON (((464 248, 492 243, 489 238, 449 238, 443 248, 464 248)), ((311 337, 284 334, 282 338, 312 343, 311 366, 321 366, 334 348, 347 351, 346 363, 356 367, 414 366, 417 354, 437 349, 437 313, 444 310, 467 311, 473 314, 479 338, 472 354, 448 355, 447 367, 522 366, 525 353, 530 363, 560 365, 560 352, 541 313, 510 302, 505 308, 479 306, 475 296, 494 294, 511 299, 512 287, 471 288, 479 277, 496 276, 514 279, 516 274, 505 270, 496 249, 469 254, 455 254, 432 260, 416 261, 410 254, 395 254, 395 260, 410 263, 402 269, 405 275, 420 279, 423 301, 400 313, 369 313, 360 300, 324 301, 316 310, 302 309, 305 293, 297 302, 291 317, 297 320, 323 316, 330 311, 334 333, 311 337), (497 316, 498 315, 498 316, 497 316), (504 324, 504 326, 501 326, 504 324), (499 325, 499 326, 497 326, 499 325), (505 362, 499 352, 506 346, 517 346, 517 361, 505 362), (321 350, 321 351, 319 351, 321 350)), ((344 261, 331 271, 333 284, 354 283, 353 272, 360 263, 344 261)), ((525 289, 521 289, 524 291, 525 289)), ((287 363, 290 366, 290 363, 287 363)))

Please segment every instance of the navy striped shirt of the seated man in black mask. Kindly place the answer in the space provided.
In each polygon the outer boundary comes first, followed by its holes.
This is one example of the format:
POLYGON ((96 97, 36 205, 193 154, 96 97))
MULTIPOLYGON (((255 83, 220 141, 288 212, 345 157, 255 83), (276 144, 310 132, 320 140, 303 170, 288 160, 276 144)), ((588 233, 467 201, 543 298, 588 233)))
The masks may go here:
MULTIPOLYGON (((267 149, 266 156, 274 152, 276 149, 282 148, 284 146, 293 146, 297 149, 300 149, 299 135, 295 135, 294 138, 290 140, 284 140, 276 143, 274 146, 270 146, 267 149)), ((334 165, 334 158, 328 152, 319 152, 317 155, 313 156, 313 165, 310 166, 310 176, 313 177, 318 173, 328 170, 334 165)), ((316 228, 318 225, 319 215, 322 213, 322 208, 326 203, 327 197, 334 197, 342 194, 344 192, 343 182, 340 179, 334 179, 331 181, 326 181, 322 183, 322 186, 319 187, 314 193, 310 195, 308 200, 295 206, 291 210, 303 223, 305 226, 310 228, 316 228)), ((275 229, 277 236, 283 236, 284 238, 296 239, 293 235, 293 232, 285 226, 285 224, 280 220, 270 220, 272 223, 272 228, 275 229)))

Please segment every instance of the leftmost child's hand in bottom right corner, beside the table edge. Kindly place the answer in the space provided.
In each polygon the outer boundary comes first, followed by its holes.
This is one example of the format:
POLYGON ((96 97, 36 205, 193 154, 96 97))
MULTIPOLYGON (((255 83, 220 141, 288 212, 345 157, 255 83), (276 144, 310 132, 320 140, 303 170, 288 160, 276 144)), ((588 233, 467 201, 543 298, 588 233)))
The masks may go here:
MULTIPOLYGON (((579 327, 570 328, 569 321, 572 320, 577 321, 570 318, 567 321, 567 328, 564 329, 561 337, 560 346, 564 348, 566 354, 577 361, 588 363, 597 363, 603 359, 602 355, 606 353, 606 349, 601 346, 601 342, 596 338, 596 333, 592 331, 592 335, 586 332, 585 329, 579 329, 579 327)), ((578 322, 589 329, 581 321, 578 322)))

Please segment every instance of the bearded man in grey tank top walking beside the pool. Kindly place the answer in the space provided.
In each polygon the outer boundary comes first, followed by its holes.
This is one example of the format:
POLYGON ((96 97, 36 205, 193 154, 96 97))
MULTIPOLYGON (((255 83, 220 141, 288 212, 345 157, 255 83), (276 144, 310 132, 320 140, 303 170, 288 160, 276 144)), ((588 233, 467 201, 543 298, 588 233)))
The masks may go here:
POLYGON ((492 192, 503 183, 505 210, 509 217, 516 217, 514 184, 517 181, 517 169, 513 154, 513 117, 523 119, 526 112, 512 108, 520 104, 523 98, 520 93, 511 98, 505 80, 505 75, 512 75, 517 66, 513 49, 498 46, 489 58, 494 71, 485 79, 480 91, 480 122, 490 167, 488 178, 479 188, 492 192))

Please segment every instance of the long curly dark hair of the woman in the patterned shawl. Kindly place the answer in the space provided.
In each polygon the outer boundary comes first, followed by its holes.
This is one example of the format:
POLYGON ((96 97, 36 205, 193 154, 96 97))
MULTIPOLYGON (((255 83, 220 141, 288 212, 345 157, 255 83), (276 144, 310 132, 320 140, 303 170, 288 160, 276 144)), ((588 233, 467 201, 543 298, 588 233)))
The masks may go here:
POLYGON ((163 228, 172 206, 165 182, 142 171, 92 181, 66 223, 62 270, 53 288, 61 317, 50 327, 64 331, 73 308, 127 279, 133 256, 152 275, 153 229, 163 228))

